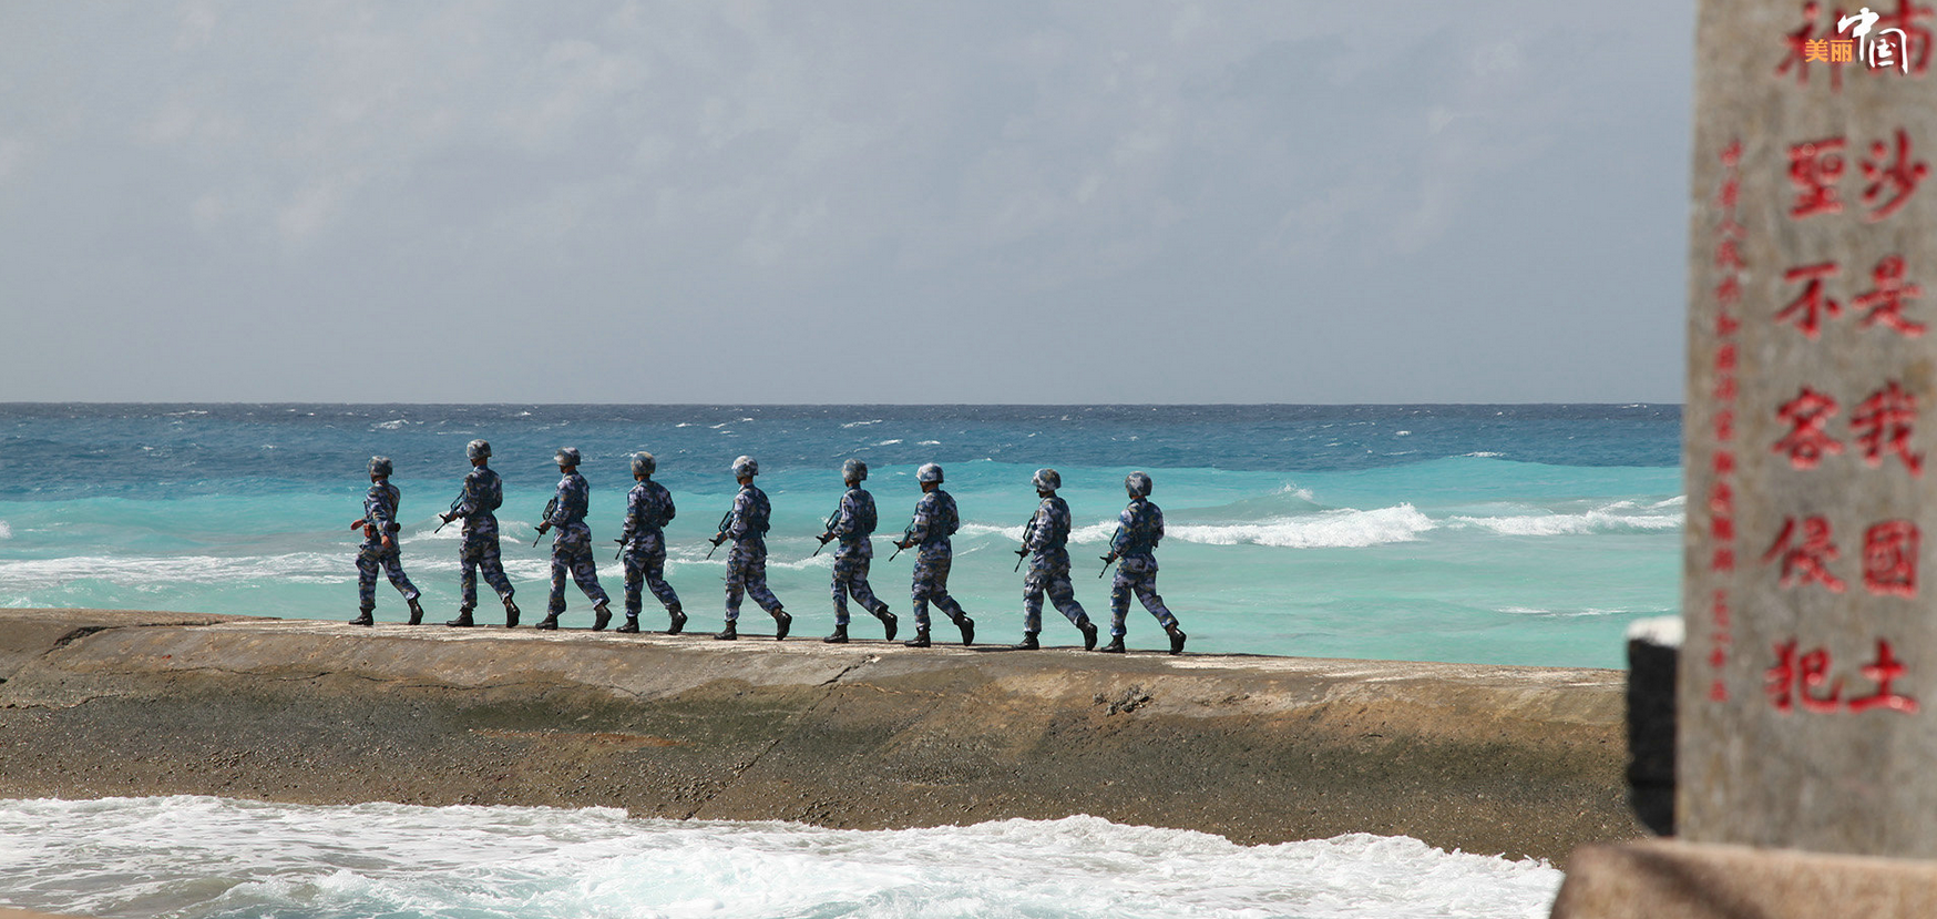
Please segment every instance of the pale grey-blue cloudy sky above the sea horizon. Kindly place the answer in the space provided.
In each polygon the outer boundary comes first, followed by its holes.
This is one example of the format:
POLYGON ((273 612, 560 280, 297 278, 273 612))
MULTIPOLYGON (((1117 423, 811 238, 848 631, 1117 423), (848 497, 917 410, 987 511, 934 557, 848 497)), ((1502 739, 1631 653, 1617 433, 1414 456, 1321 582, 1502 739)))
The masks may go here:
POLYGON ((0 401, 1681 401, 1693 16, 0 0, 0 401))

